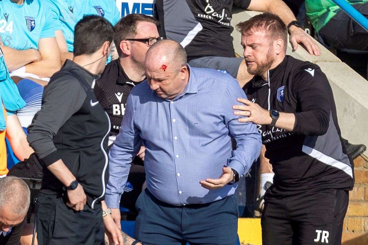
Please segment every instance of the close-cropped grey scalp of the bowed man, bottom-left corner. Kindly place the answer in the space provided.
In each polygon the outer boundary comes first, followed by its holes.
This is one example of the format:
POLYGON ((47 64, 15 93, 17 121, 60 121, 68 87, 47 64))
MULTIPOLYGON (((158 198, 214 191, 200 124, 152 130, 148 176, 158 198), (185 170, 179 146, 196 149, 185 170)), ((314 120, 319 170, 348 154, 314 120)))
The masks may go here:
POLYGON ((22 179, 15 176, 0 179, 0 211, 6 208, 14 215, 25 215, 30 198, 29 187, 22 179))

